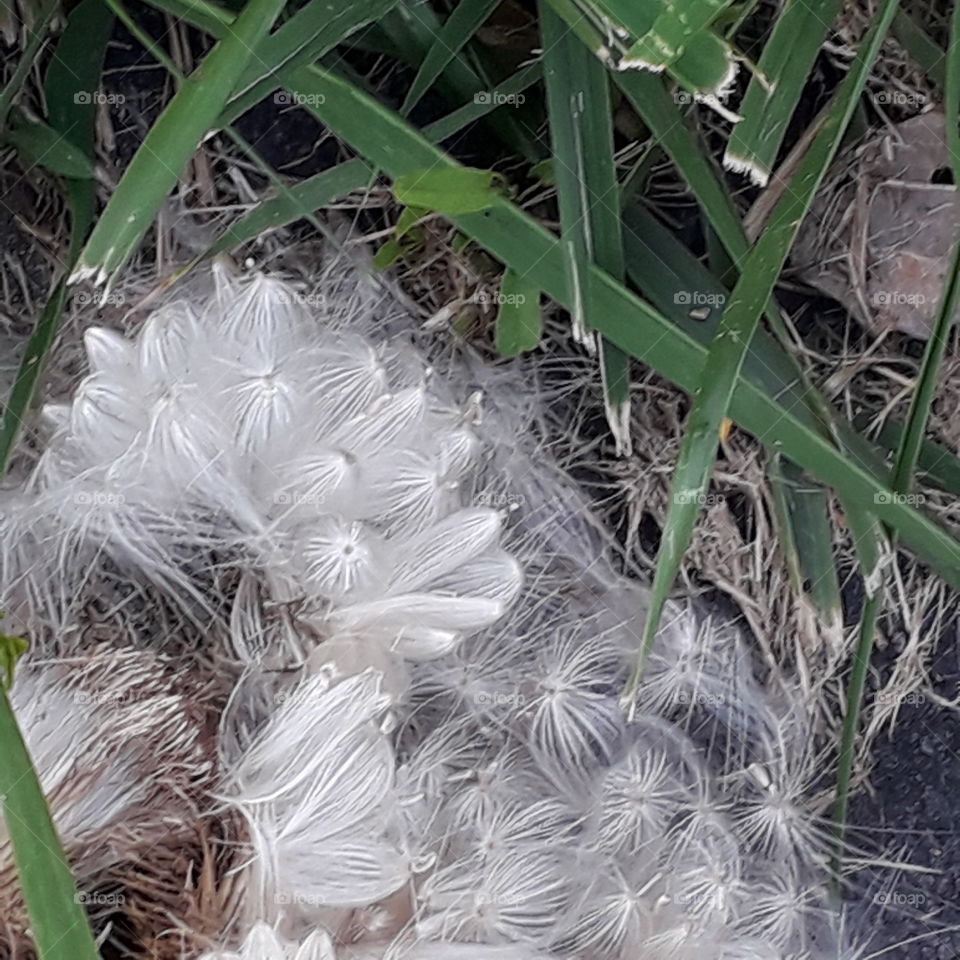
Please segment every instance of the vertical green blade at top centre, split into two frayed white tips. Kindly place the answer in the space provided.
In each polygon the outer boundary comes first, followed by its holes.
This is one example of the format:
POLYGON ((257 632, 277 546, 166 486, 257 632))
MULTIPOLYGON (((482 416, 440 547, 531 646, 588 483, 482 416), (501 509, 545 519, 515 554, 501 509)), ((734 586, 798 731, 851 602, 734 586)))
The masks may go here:
MULTIPOLYGON (((560 207, 560 235, 579 273, 595 263, 623 282, 626 267, 620 193, 613 156, 610 80, 599 60, 546 4, 540 4, 547 113, 553 176, 560 207)), ((581 281, 577 281, 579 286, 581 281)), ((582 282, 587 282, 586 278, 582 282)), ((574 335, 585 340, 598 324, 589 312, 573 317, 574 335)), ((597 338, 607 422, 617 452, 630 451, 630 358, 597 338)))

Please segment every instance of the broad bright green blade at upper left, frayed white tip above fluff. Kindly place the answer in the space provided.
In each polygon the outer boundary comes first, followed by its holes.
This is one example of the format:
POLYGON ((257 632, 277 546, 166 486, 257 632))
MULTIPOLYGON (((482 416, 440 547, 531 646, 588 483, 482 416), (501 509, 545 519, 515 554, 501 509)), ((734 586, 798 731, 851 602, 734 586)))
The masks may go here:
POLYGON ((201 68, 186 78, 121 177, 71 281, 93 276, 103 283, 126 263, 283 5, 250 0, 201 68))

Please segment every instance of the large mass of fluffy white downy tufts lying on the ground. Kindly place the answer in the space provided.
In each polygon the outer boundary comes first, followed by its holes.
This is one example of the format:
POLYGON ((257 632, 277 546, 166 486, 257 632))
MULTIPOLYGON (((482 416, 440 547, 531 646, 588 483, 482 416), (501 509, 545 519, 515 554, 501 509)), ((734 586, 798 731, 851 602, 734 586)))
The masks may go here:
POLYGON ((855 956, 805 705, 672 607, 628 723, 646 591, 531 366, 431 359, 378 309, 218 272, 91 328, 6 494, 0 605, 41 648, 101 655, 93 589, 135 646, 234 678, 207 813, 245 824, 241 908, 206 956, 855 956))

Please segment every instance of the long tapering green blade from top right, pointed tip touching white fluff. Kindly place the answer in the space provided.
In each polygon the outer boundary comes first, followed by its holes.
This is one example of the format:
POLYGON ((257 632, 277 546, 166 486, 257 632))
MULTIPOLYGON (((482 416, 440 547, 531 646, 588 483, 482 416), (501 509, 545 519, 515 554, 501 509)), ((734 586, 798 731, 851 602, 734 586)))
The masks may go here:
POLYGON ((635 709, 640 677, 659 628, 660 617, 693 535, 699 504, 706 494, 713 472, 720 426, 727 416, 750 341, 786 263, 800 224, 840 145, 896 7, 896 0, 886 0, 881 6, 849 73, 834 96, 823 125, 797 167, 791 188, 785 191, 770 216, 768 226, 744 260, 740 279, 727 302, 720 327, 711 343, 694 394, 693 409, 671 484, 641 646, 621 701, 631 713, 635 709))

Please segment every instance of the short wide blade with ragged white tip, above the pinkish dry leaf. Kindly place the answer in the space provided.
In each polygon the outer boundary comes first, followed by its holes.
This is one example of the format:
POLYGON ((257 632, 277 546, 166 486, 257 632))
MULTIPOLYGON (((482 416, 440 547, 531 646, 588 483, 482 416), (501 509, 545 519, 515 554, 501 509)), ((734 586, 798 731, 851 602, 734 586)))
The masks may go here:
POLYGON ((724 165, 763 186, 777 159, 787 124, 803 95, 807 77, 840 0, 787 0, 763 46, 759 73, 740 104, 743 118, 730 134, 724 165))

